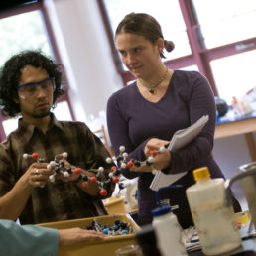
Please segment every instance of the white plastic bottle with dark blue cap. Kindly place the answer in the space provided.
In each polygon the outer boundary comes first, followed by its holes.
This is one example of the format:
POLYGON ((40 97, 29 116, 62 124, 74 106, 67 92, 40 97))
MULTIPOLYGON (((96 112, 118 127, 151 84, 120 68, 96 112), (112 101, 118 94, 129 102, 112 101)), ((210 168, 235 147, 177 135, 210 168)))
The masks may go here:
POLYGON ((163 256, 188 255, 182 242, 182 228, 170 206, 152 210, 152 225, 157 234, 158 247, 163 256))

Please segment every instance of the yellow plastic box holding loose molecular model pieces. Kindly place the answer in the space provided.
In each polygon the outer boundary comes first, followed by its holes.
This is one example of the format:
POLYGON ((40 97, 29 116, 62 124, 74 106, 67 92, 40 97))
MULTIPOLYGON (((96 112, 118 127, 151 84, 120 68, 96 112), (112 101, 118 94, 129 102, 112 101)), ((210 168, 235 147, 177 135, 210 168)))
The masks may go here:
MULTIPOLYGON (((39 226, 57 229, 81 227, 87 229, 87 225, 97 219, 99 224, 113 226, 114 220, 119 219, 131 225, 133 233, 126 235, 108 236, 102 240, 81 242, 75 245, 61 246, 59 256, 115 256, 115 251, 123 246, 137 244, 134 232, 140 227, 133 221, 129 214, 105 215, 91 218, 81 218, 58 222, 38 224, 39 226)), ((45 245, 47 246, 47 244, 45 245)))

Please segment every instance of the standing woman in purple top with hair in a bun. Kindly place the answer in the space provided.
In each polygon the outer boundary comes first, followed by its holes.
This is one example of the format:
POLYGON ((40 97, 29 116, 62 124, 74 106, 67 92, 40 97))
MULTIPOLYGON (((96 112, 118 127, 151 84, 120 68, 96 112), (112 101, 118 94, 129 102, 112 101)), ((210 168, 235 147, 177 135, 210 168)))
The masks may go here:
MULTIPOLYGON (((202 115, 209 116, 190 145, 176 152, 165 150, 154 158, 154 167, 166 174, 188 171, 175 183, 183 189, 168 193, 170 204, 179 205, 175 213, 186 228, 192 225, 185 194, 194 183, 192 170, 207 166, 212 178, 223 178, 211 156, 216 118, 211 88, 199 72, 172 70, 162 63, 164 49, 171 52, 174 44, 164 40, 161 26, 148 14, 125 16, 116 29, 115 41, 122 63, 137 78, 108 100, 107 123, 115 154, 123 145, 128 159, 143 161, 152 149, 166 145, 177 130, 187 128, 202 115)), ((151 210, 157 207, 155 192, 149 188, 154 178, 152 168, 144 165, 127 169, 123 175, 128 179, 139 177, 138 221, 141 225, 150 223, 151 210)), ((240 210, 239 203, 236 206, 240 210)))

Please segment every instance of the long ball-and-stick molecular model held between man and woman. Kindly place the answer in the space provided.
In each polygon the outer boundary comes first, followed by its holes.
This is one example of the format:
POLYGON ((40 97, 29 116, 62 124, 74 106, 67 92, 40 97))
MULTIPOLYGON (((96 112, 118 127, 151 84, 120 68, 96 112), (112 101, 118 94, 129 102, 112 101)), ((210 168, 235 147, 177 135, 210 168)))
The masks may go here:
MULTIPOLYGON (((103 167, 99 167, 98 169, 90 169, 89 171, 94 172, 95 175, 89 177, 89 176, 83 174, 80 168, 66 166, 65 161, 64 161, 67 158, 66 152, 63 152, 62 154, 58 154, 57 156, 55 156, 55 159, 49 163, 47 168, 53 169, 55 171, 54 174, 49 177, 49 180, 51 183, 54 183, 56 181, 56 176, 58 174, 63 174, 63 176, 65 178, 67 178, 73 174, 76 174, 76 175, 79 175, 76 182, 81 181, 81 186, 83 188, 88 188, 89 182, 97 183, 98 187, 100 189, 100 191, 99 191, 100 195, 105 196, 107 194, 107 191, 105 189, 106 185, 108 183, 110 183, 111 181, 115 184, 119 183, 119 177, 121 175, 122 169, 125 169, 125 168, 131 169, 133 167, 140 167, 142 164, 151 166, 154 162, 154 157, 156 156, 156 154, 163 152, 164 148, 163 149, 160 148, 158 151, 153 150, 151 152, 150 156, 145 161, 139 161, 139 160, 134 160, 134 159, 127 161, 128 154, 125 152, 125 147, 120 146, 119 150, 120 150, 120 153, 117 157, 106 158, 106 162, 108 164, 113 164, 110 169, 110 173, 108 175, 107 180, 104 179, 104 175, 103 175, 104 168, 103 167), (116 163, 118 163, 118 165, 116 163)), ((25 158, 25 159, 33 158, 37 162, 41 162, 41 163, 45 162, 44 159, 39 158, 38 153, 33 153, 32 155, 25 153, 23 155, 23 158, 25 158)), ((153 172, 154 172, 154 169, 153 169, 153 172)))

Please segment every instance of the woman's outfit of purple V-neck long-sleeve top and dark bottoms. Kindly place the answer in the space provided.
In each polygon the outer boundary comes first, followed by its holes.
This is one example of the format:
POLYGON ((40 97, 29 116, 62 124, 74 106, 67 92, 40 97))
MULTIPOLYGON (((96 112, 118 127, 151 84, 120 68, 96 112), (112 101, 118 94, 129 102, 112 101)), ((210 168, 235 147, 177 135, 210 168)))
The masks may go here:
MULTIPOLYGON (((145 160, 144 148, 150 138, 170 140, 173 134, 187 128, 202 115, 209 115, 209 121, 192 143, 176 152, 171 152, 170 166, 166 173, 188 171, 176 182, 183 190, 170 192, 171 205, 178 204, 181 212, 188 212, 189 205, 185 190, 194 181, 192 170, 207 166, 211 177, 223 177, 211 157, 215 130, 215 102, 211 88, 204 76, 196 71, 175 70, 166 94, 156 103, 149 102, 139 92, 136 82, 115 92, 108 100, 107 123, 115 154, 119 146, 125 146, 128 158, 145 160)), ((123 171, 127 178, 139 177, 139 215, 151 216, 156 207, 155 192, 149 189, 151 173, 123 171)))

